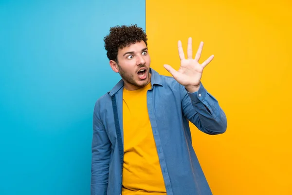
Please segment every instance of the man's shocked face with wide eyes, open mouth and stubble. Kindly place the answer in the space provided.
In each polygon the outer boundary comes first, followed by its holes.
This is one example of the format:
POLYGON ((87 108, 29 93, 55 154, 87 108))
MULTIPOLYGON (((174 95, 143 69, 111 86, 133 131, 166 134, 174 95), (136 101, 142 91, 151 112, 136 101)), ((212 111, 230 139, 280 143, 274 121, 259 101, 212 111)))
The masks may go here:
POLYGON ((117 59, 118 63, 110 60, 110 66, 121 75, 126 89, 140 89, 150 82, 150 56, 144 41, 119 49, 117 59))

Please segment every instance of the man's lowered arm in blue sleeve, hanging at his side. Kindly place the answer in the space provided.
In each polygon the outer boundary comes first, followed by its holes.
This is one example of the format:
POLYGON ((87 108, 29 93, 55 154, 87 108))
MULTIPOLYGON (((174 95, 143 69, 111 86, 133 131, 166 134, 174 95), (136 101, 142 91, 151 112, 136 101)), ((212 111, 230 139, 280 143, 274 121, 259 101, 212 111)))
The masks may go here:
POLYGON ((111 143, 100 119, 98 103, 93 113, 91 158, 91 195, 106 195, 109 178, 111 143))

